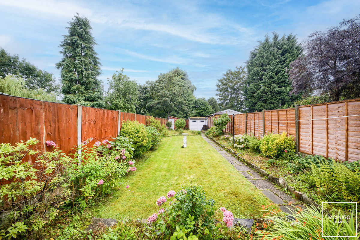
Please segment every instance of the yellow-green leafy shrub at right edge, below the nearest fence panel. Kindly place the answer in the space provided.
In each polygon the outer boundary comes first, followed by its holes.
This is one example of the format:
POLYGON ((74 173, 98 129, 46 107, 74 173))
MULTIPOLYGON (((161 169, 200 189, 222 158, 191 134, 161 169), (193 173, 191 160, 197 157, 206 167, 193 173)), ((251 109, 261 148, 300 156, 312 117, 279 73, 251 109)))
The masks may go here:
POLYGON ((351 171, 342 163, 333 160, 311 166, 314 185, 319 194, 331 201, 359 201, 360 200, 360 175, 351 171))

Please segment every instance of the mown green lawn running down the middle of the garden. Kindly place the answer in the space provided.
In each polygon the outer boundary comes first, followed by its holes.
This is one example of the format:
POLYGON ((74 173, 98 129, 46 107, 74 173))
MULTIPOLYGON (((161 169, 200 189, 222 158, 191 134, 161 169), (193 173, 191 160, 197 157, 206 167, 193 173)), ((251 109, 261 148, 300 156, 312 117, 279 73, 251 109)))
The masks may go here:
POLYGON ((187 148, 182 145, 181 136, 163 139, 147 160, 136 162, 138 170, 124 178, 120 190, 93 214, 102 218, 147 218, 157 212, 159 197, 189 186, 189 177, 194 175, 193 183, 202 185, 206 197, 213 198, 217 207, 221 204, 235 217, 262 216, 261 205, 269 204, 269 199, 204 139, 188 136, 187 148), (125 188, 127 184, 129 189, 125 188))

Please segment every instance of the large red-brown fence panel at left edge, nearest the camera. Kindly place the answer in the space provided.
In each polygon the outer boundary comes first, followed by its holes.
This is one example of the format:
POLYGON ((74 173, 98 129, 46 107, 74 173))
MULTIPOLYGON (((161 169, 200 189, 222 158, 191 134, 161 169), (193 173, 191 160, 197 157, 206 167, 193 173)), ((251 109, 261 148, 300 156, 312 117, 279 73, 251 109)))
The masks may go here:
MULTIPOLYGON (((64 153, 75 153, 77 106, 0 95, 0 143, 37 138, 44 149, 55 142, 64 153)), ((31 161, 31 160, 30 160, 31 161)))

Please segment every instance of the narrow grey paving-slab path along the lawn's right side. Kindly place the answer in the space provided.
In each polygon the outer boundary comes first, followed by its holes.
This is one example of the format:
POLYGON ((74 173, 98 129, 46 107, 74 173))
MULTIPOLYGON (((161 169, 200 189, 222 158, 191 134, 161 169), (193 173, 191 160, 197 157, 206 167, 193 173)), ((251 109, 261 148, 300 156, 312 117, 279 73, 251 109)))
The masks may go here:
POLYGON ((265 177, 260 176, 255 170, 244 165, 244 163, 238 161, 237 158, 219 147, 203 133, 201 134, 201 137, 210 144, 210 146, 215 148, 216 151, 219 152, 220 155, 223 156, 231 165, 233 165, 234 168, 238 170, 239 173, 242 174, 250 183, 252 183, 257 189, 261 190, 267 198, 269 198, 273 203, 279 204, 279 208, 283 212, 292 213, 294 211, 294 209, 287 204, 289 202, 296 203, 296 199, 277 189, 273 183, 265 177))

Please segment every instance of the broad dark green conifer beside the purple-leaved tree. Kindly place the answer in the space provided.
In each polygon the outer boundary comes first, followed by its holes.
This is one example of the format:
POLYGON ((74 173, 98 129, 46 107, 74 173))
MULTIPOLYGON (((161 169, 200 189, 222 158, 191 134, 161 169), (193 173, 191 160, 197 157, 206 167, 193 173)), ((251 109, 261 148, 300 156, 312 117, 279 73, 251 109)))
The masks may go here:
POLYGON ((273 33, 265 36, 264 42, 250 52, 247 61, 244 102, 249 112, 263 109, 278 109, 290 105, 300 96, 289 94, 291 84, 286 73, 289 64, 302 53, 301 45, 294 35, 283 36, 273 33))

